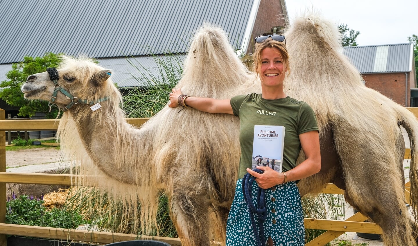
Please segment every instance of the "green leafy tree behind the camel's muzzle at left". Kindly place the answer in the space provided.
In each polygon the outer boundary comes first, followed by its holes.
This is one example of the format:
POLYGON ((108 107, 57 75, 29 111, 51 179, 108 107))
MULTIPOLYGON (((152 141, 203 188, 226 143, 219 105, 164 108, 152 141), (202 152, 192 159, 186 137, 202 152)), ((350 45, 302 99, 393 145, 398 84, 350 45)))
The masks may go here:
POLYGON ((25 56, 22 62, 13 63, 12 70, 6 74, 7 80, 0 82, 0 98, 10 106, 20 107, 19 116, 32 117, 36 112, 46 113, 47 118, 55 118, 58 110, 52 107, 48 112, 48 102, 27 100, 23 98, 20 87, 31 74, 46 71, 48 67, 55 67, 59 63, 59 54, 45 53, 43 57, 25 56))

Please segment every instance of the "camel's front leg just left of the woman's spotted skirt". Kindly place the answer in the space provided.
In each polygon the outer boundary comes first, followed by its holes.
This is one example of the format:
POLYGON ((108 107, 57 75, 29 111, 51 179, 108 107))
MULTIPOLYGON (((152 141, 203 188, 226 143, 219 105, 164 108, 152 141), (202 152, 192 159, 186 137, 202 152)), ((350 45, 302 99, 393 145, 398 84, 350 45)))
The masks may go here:
POLYGON ((209 246, 211 228, 206 198, 207 195, 188 189, 175 190, 171 197, 171 217, 184 246, 209 246))

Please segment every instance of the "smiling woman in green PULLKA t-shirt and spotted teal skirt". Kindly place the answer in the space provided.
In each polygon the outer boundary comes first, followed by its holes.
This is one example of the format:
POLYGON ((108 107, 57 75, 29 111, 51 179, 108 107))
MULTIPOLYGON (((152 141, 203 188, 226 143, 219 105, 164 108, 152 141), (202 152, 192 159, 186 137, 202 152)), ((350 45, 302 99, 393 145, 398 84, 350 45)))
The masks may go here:
POLYGON ((180 90, 175 89, 170 93, 169 107, 181 105, 204 112, 227 113, 240 117, 241 159, 239 179, 227 222, 228 246, 256 245, 241 186, 242 178, 247 172, 255 177, 254 185, 266 189, 268 216, 263 223, 263 245, 266 242, 270 246, 281 245, 280 243, 304 245, 303 212, 296 182, 319 172, 321 168, 319 129, 311 107, 305 102, 286 96, 283 91, 285 74, 290 73, 288 53, 283 41, 285 39, 281 35, 255 38, 253 68, 260 76, 262 94, 252 93, 217 100, 182 95, 180 90), (254 126, 260 125, 259 122, 263 122, 263 125, 285 127, 283 172, 260 166, 257 169, 263 170, 263 173, 250 169, 254 126), (296 166, 301 148, 306 160, 296 166))

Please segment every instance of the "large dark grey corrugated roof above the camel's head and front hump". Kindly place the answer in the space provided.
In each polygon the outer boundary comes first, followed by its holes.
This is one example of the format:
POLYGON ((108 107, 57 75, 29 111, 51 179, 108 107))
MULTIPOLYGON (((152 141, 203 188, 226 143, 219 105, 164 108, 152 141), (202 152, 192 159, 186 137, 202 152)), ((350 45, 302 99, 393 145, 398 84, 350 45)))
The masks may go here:
POLYGON ((244 33, 255 4, 259 2, 3 0, 0 64, 45 52, 96 58, 184 53, 191 32, 204 22, 222 26, 230 34, 231 44, 240 48, 249 38, 244 33))

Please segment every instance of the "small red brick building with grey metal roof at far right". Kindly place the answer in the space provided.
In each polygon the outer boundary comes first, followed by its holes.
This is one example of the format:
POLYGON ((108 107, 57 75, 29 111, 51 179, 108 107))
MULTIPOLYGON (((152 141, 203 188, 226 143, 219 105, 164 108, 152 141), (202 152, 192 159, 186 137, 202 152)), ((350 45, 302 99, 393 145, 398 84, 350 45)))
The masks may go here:
POLYGON ((367 87, 403 106, 418 105, 414 92, 411 94, 416 88, 413 44, 344 47, 344 54, 362 74, 367 87))

